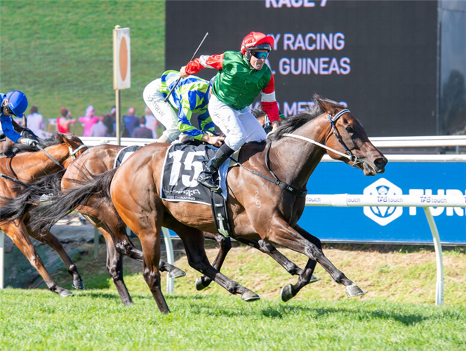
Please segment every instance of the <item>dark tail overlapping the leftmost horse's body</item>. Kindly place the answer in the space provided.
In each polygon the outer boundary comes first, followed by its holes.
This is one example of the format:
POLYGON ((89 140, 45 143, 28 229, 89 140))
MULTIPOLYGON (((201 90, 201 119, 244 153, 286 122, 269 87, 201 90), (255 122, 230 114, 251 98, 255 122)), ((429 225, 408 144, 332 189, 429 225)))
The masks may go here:
POLYGON ((34 183, 13 185, 13 190, 18 193, 16 197, 0 197, 0 223, 23 218, 43 194, 58 194, 63 174, 65 171, 48 174, 34 183))

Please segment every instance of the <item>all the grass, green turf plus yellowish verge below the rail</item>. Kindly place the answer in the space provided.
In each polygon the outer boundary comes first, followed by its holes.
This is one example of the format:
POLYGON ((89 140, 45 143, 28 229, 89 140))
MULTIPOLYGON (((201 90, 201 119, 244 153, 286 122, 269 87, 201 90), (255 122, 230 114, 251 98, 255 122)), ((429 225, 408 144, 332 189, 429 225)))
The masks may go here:
MULTIPOLYGON (((297 253, 281 251, 303 265, 297 253)), ((140 263, 128 258, 134 304, 121 305, 102 247, 98 260, 76 260, 87 290, 72 298, 46 289, 0 291, 0 350, 465 350, 464 250, 444 252, 443 307, 434 306, 434 252, 400 251, 325 249, 366 296, 345 298, 318 265, 319 282, 282 303, 281 286, 295 278, 258 251, 235 247, 222 271, 259 293, 250 304, 216 284, 196 291, 199 274, 181 256, 175 264, 187 277, 175 281, 175 294, 166 295, 172 313, 162 315, 140 263)), ((210 259, 215 253, 208 249, 210 259)), ((57 278, 70 287, 67 273, 57 278)))

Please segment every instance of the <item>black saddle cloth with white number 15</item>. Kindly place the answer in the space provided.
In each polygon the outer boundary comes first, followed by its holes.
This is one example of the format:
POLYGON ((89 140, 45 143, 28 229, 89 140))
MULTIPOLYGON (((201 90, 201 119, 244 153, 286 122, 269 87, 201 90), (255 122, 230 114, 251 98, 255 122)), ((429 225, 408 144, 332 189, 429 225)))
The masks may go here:
MULTIPOLYGON (((211 190, 197 183, 204 164, 217 151, 211 145, 173 144, 168 148, 161 176, 161 198, 166 201, 186 201, 211 206, 211 190)), ((229 162, 220 166, 220 190, 227 199, 229 162)), ((217 175, 214 176, 214 179, 217 175)))

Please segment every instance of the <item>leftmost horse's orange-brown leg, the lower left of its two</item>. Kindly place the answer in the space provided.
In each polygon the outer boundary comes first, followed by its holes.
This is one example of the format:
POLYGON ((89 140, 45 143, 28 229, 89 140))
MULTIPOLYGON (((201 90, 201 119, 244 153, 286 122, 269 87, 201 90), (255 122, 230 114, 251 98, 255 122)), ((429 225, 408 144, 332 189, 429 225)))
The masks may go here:
POLYGON ((31 239, 29 239, 26 227, 22 221, 7 223, 2 225, 1 229, 8 235, 8 237, 11 237, 15 245, 18 246, 18 249, 20 249, 20 251, 26 256, 27 260, 29 260, 32 267, 36 268, 39 274, 41 274, 42 279, 44 279, 44 282, 47 284, 50 291, 58 293, 62 298, 74 295, 71 291, 59 286, 55 280, 53 280, 51 275, 48 274, 44 263, 32 245, 31 239))

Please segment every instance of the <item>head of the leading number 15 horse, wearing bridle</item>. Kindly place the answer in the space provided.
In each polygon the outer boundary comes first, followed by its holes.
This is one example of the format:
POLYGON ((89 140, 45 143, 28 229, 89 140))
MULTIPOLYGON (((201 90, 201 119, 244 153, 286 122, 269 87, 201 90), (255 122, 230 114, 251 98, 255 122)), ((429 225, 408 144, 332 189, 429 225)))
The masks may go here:
POLYGON ((369 140, 364 126, 344 107, 337 107, 329 103, 330 100, 315 98, 321 111, 325 112, 330 131, 326 135, 326 145, 340 152, 336 154, 330 150, 328 155, 333 159, 340 159, 347 164, 361 168, 365 176, 375 176, 383 173, 387 159, 369 140), (342 155, 343 154, 343 155, 342 155))

